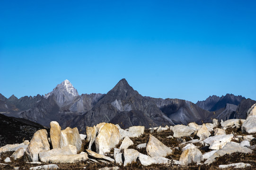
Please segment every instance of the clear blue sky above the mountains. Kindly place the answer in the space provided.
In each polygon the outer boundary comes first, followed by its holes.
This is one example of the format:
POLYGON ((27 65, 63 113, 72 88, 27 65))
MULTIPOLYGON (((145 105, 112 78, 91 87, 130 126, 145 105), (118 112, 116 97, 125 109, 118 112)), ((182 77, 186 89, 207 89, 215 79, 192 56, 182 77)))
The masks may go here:
POLYGON ((0 93, 51 92, 68 79, 107 93, 192 102, 256 100, 255 0, 0 1, 0 93))

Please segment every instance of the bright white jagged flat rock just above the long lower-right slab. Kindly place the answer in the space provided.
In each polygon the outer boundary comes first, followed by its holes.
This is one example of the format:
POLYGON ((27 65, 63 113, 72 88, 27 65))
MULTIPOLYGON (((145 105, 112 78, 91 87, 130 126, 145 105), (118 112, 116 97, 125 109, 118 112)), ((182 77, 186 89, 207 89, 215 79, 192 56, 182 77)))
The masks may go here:
POLYGON ((212 150, 219 150, 222 149, 228 142, 231 142, 234 135, 218 135, 218 136, 211 136, 207 139, 203 140, 205 144, 210 144, 209 149, 212 150))

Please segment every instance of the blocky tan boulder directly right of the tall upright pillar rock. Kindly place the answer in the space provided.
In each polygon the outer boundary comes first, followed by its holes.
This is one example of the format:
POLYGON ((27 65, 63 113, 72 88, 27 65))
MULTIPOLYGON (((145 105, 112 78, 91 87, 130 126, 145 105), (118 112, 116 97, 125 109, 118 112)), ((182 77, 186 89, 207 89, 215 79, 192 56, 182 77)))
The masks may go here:
POLYGON ((67 127, 65 130, 61 131, 61 148, 67 146, 68 144, 76 146, 78 152, 81 150, 82 139, 79 135, 77 127, 67 127))

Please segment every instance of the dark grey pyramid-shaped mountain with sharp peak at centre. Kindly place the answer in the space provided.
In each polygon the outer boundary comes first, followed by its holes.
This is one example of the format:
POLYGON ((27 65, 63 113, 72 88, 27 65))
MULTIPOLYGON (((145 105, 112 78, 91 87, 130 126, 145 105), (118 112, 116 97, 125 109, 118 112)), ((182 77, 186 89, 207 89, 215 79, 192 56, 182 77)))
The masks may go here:
POLYGON ((125 79, 120 80, 91 110, 75 119, 71 126, 85 130, 86 126, 103 121, 111 121, 124 128, 174 125, 154 102, 133 90, 125 79))

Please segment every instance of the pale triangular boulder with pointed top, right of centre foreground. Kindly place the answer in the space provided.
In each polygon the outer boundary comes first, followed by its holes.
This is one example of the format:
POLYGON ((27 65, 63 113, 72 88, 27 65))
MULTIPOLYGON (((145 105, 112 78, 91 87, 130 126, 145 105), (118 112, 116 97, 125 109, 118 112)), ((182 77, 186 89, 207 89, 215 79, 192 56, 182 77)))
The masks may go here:
POLYGON ((157 138, 155 138, 151 134, 146 146, 146 151, 148 155, 150 155, 151 157, 166 157, 172 153, 172 150, 169 147, 161 143, 157 138))

